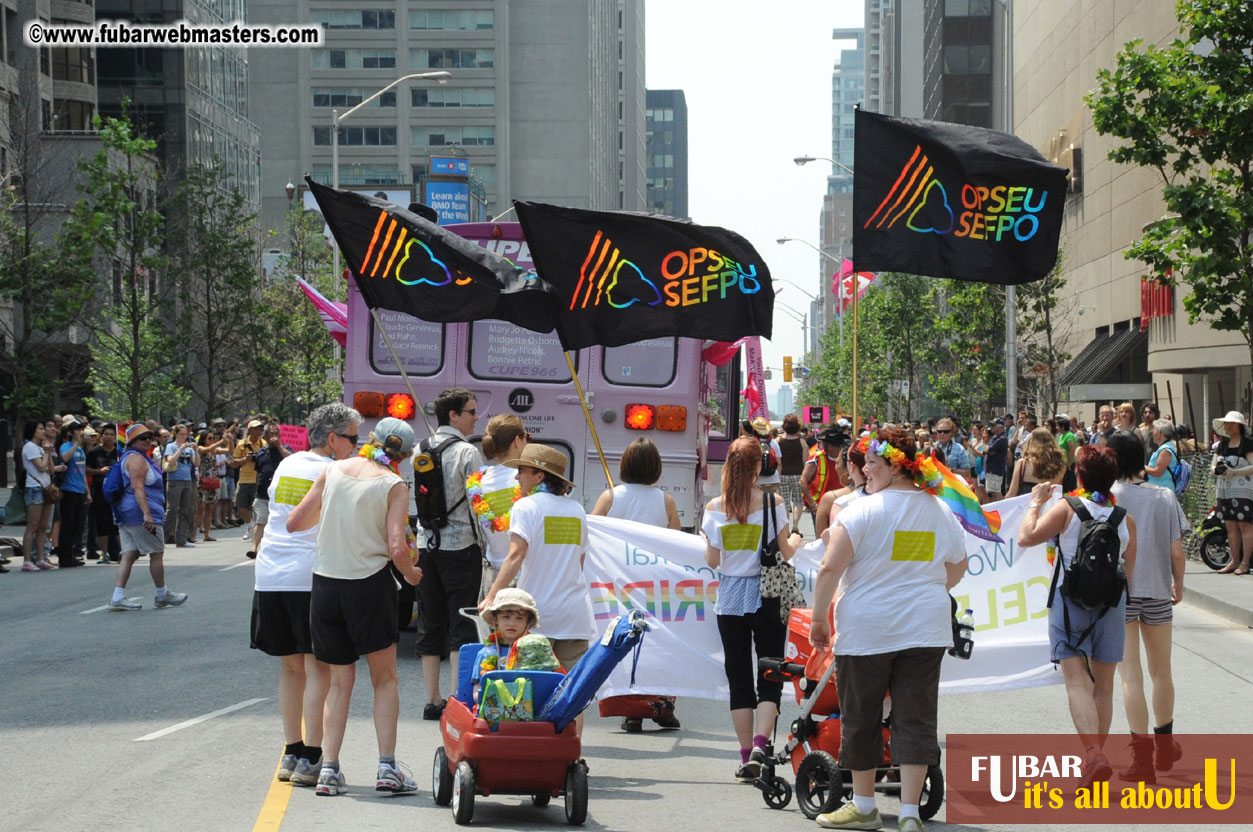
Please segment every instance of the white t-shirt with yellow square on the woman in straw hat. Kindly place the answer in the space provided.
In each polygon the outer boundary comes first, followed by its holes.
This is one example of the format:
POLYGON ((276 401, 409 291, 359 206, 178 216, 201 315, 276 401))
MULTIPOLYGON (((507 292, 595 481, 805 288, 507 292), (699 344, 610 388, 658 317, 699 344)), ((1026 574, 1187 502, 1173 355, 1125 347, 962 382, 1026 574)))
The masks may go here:
POLYGON ((596 623, 583 554, 588 550, 588 516, 570 497, 533 494, 514 504, 509 531, 526 541, 517 588, 535 598, 536 633, 551 639, 593 639, 596 623))

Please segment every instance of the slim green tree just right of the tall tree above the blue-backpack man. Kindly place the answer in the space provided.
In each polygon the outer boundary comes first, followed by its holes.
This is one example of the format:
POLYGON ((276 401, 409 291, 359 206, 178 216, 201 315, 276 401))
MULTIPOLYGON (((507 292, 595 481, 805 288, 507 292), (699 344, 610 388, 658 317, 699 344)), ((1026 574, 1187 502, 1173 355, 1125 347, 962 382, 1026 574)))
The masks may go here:
POLYGON ((261 299, 256 216, 229 178, 217 158, 193 164, 170 199, 178 331, 194 345, 185 386, 209 415, 238 401, 252 375, 243 325, 261 299))

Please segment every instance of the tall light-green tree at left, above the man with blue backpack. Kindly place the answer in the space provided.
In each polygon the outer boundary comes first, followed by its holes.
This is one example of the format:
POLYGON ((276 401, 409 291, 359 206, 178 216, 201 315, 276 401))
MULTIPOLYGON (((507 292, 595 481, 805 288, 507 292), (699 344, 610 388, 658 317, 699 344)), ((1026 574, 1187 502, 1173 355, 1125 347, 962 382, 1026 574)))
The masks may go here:
MULTIPOLYGON (((157 209, 157 143, 140 137, 125 113, 95 118, 103 148, 79 162, 85 182, 69 224, 114 274, 95 326, 89 381, 96 412, 148 419, 188 400, 178 382, 185 348, 165 323, 173 320, 169 284, 158 277, 164 217, 157 209)), ((185 342, 183 342, 185 343, 185 342)))

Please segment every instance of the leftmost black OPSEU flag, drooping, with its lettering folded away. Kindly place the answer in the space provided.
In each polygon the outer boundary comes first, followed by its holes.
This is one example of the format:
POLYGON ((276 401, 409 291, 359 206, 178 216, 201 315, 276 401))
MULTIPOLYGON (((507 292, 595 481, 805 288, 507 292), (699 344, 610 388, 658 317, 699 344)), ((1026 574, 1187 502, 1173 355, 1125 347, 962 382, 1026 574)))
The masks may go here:
POLYGON ((556 327, 556 298, 534 272, 390 202, 304 180, 370 308, 439 322, 499 318, 535 332, 556 327))

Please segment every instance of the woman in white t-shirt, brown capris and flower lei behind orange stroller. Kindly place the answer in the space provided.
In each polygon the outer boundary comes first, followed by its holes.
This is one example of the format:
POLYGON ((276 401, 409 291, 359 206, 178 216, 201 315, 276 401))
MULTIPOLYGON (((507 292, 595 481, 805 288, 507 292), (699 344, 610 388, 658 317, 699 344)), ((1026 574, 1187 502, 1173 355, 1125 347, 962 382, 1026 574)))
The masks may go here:
POLYGON ((858 442, 868 494, 834 517, 814 583, 809 640, 834 653, 840 762, 853 772, 853 799, 819 816, 821 826, 877 828, 875 771, 883 759, 888 687, 902 829, 922 828, 922 782, 927 767, 940 763, 940 662, 952 647, 949 589, 966 573, 966 535, 926 490, 940 475, 915 442, 901 429, 858 442), (837 585, 832 634, 826 613, 837 585))

